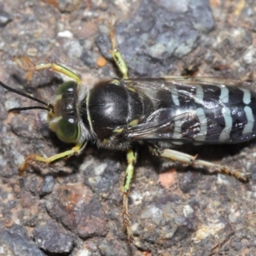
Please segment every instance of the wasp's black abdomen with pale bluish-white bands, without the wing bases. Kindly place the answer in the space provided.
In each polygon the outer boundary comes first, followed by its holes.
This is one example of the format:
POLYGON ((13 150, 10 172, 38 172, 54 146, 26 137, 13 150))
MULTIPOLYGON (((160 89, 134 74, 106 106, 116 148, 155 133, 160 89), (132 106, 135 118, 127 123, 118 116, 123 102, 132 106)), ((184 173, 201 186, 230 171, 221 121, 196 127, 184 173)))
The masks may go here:
POLYGON ((172 85, 169 108, 172 140, 240 143, 255 137, 256 94, 246 88, 218 85, 172 85))

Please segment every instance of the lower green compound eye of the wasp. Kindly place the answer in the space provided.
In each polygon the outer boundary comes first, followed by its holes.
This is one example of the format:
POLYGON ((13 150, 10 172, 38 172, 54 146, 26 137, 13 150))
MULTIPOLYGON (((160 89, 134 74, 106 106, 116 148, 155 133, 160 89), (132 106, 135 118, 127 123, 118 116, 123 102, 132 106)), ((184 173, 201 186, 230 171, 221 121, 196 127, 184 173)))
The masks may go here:
POLYGON ((56 124, 55 132, 63 143, 76 143, 79 137, 79 125, 73 118, 61 118, 56 124))

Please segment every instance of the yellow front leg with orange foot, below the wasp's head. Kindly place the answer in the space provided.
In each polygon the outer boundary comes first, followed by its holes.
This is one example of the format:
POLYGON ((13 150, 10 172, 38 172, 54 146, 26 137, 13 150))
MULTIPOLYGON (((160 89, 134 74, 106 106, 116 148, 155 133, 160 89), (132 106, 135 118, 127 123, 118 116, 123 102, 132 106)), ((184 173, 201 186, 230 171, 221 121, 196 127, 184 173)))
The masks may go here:
POLYGON ((19 166, 19 174, 20 174, 20 176, 23 176, 23 174, 26 171, 26 169, 28 168, 28 166, 31 166, 31 165, 37 166, 40 163, 49 164, 51 162, 54 162, 55 160, 60 160, 61 158, 64 158, 64 157, 68 158, 68 157, 72 156, 73 154, 79 154, 83 150, 84 147, 85 147, 85 145, 83 145, 83 146, 76 145, 75 147, 71 148, 70 150, 61 152, 60 154, 55 154, 50 157, 43 157, 38 154, 29 154, 28 156, 26 156, 26 159, 24 160, 24 162, 19 166))

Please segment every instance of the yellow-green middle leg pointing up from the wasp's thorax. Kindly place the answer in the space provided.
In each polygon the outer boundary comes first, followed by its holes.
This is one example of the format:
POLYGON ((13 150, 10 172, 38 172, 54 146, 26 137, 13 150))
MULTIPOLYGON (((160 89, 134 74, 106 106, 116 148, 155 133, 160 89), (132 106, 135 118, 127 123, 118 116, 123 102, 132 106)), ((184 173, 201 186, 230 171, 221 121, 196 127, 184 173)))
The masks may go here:
POLYGON ((112 44, 111 54, 113 56, 113 61, 116 66, 119 68, 120 73, 123 75, 123 79, 128 79, 128 68, 125 64, 125 60, 123 59, 121 53, 117 49, 116 37, 115 37, 115 26, 116 19, 115 16, 112 15, 109 20, 109 37, 112 44))

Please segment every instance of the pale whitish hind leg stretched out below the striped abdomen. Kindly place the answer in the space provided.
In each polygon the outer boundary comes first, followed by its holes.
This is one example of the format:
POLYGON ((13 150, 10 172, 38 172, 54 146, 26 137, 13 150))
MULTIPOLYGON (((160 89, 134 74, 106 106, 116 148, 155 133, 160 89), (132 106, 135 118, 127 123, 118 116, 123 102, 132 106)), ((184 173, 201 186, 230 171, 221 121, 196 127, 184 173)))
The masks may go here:
POLYGON ((189 154, 184 154, 182 152, 178 152, 172 149, 154 149, 154 152, 162 157, 169 158, 174 161, 181 162, 186 165, 195 166, 195 167, 207 167, 209 172, 220 172, 232 175, 242 181, 247 181, 247 174, 241 173, 236 170, 232 170, 227 166, 215 165, 211 162, 207 162, 204 160, 197 160, 196 156, 192 156, 189 154))

